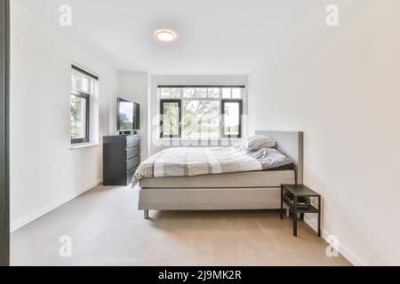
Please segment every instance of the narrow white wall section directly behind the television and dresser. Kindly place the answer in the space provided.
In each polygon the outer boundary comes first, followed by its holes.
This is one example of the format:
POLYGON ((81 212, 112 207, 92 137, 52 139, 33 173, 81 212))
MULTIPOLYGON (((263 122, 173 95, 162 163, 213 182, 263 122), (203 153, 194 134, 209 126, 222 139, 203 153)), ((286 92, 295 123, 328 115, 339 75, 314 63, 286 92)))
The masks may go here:
POLYGON ((140 158, 148 158, 148 72, 120 74, 119 96, 140 104, 140 158))

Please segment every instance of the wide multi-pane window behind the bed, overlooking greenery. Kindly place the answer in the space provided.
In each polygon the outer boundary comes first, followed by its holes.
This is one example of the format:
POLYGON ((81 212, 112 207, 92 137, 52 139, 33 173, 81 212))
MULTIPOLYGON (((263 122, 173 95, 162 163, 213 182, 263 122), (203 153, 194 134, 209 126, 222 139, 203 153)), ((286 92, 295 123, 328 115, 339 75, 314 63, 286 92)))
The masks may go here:
POLYGON ((158 86, 160 137, 242 137, 244 86, 158 86))

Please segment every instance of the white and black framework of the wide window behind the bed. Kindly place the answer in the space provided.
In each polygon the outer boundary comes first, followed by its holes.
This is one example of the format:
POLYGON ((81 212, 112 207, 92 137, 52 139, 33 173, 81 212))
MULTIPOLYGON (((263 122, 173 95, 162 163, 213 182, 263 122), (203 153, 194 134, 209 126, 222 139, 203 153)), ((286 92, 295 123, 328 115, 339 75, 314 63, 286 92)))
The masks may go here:
MULTIPOLYGON (((185 84, 182 84, 182 85, 178 85, 178 84, 173 84, 173 85, 164 85, 164 84, 159 84, 159 85, 157 85, 157 90, 159 90, 159 89, 174 89, 174 88, 179 88, 180 89, 180 98, 171 98, 171 99, 168 99, 168 98, 166 98, 166 99, 163 99, 162 97, 161 97, 161 92, 160 91, 157 91, 157 94, 158 94, 158 97, 157 97, 157 99, 158 99, 158 101, 159 101, 159 106, 160 106, 160 112, 159 112, 159 114, 160 114, 160 122, 159 122, 159 126, 160 126, 160 138, 180 138, 180 139, 188 139, 188 140, 191 140, 191 139, 193 139, 193 138, 182 138, 182 127, 183 127, 183 122, 182 122, 182 120, 183 120, 183 109, 182 109, 182 105, 183 105, 183 102, 185 102, 185 101, 191 101, 191 100, 207 100, 207 101, 219 101, 220 102, 220 107, 219 107, 219 110, 220 110, 220 122, 219 122, 219 124, 220 124, 220 138, 217 138, 217 139, 221 139, 221 138, 228 138, 228 139, 231 139, 231 138, 242 138, 242 134, 243 134, 243 123, 242 123, 242 115, 243 115, 243 113, 244 113, 244 110, 243 110, 243 106, 244 106, 244 99, 246 98, 246 96, 245 96, 245 89, 246 89, 246 86, 245 85, 236 85, 236 84, 234 84, 234 85, 220 85, 220 84, 215 84, 215 85, 185 85, 185 84), (193 97, 193 98, 184 98, 183 97, 183 89, 186 89, 186 88, 189 88, 189 89, 191 89, 191 88, 193 88, 193 89, 207 89, 207 94, 208 94, 208 89, 220 89, 220 97, 219 98, 198 98, 198 97, 196 97, 196 93, 195 93, 195 97, 193 97), (223 96, 222 96, 222 90, 223 89, 230 89, 230 98, 224 98, 223 96), (240 99, 237 99, 237 98, 232 98, 232 89, 236 89, 236 88, 238 88, 238 89, 241 89, 242 91, 241 91, 241 98, 240 99), (176 102, 176 103, 178 103, 179 104, 179 107, 180 107, 180 117, 179 117, 179 135, 168 135, 168 136, 164 136, 164 133, 163 133, 163 118, 164 118, 164 107, 163 107, 163 105, 164 105, 164 102, 176 102), (235 135, 235 136, 233 136, 233 135, 225 135, 224 134, 224 122, 223 122, 223 120, 224 120, 224 113, 223 113, 223 110, 224 110, 224 105, 225 105, 225 102, 237 102, 237 103, 239 103, 239 117, 240 117, 240 119, 239 119, 239 135, 235 135)), ((196 139, 202 139, 202 138, 196 138, 196 139)), ((206 138, 206 139, 214 139, 214 138, 206 138)))

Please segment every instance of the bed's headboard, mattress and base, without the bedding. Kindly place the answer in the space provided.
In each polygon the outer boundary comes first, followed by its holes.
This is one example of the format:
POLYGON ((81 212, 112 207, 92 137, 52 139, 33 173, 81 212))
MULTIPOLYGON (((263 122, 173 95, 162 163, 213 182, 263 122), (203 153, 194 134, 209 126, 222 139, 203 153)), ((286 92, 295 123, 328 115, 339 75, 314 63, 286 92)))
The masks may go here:
MULTIPOLYGON (((138 208, 144 210, 279 209, 280 186, 302 184, 303 133, 257 130, 276 141, 292 168, 251 170, 190 177, 142 177, 138 208)), ((247 165, 252 167, 252 164, 247 165)), ((156 169, 155 169, 156 170, 156 169)))

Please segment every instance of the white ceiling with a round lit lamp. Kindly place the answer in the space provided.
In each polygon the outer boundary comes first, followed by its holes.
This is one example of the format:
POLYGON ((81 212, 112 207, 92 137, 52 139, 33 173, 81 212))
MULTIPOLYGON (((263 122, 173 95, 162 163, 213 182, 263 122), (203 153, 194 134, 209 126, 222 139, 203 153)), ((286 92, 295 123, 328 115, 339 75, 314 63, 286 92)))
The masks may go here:
POLYGON ((246 75, 318 1, 18 0, 118 70, 157 75, 246 75), (59 25, 60 4, 72 7, 70 28, 59 25), (178 41, 156 41, 159 28, 178 41))

